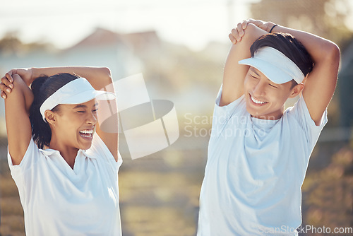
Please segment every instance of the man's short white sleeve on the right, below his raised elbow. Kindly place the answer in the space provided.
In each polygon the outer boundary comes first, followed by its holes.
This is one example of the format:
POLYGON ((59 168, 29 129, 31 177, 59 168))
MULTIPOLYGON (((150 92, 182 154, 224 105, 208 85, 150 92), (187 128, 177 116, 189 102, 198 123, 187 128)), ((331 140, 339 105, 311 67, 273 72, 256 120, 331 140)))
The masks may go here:
POLYGON ((328 122, 327 110, 323 112, 321 123, 317 126, 313 119, 311 119, 308 107, 306 107, 305 100, 303 96, 301 96, 294 107, 289 108, 288 115, 289 117, 293 117, 297 120, 299 126, 306 134, 309 146, 313 148, 313 146, 315 146, 316 142, 318 141, 318 136, 320 136, 323 127, 328 122))

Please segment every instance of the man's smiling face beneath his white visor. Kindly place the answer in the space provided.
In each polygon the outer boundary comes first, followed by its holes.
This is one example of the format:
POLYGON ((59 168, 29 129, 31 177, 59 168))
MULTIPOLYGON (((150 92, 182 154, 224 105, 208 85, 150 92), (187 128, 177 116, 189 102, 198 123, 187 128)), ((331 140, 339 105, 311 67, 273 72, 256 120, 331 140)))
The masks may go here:
POLYGON ((285 102, 294 98, 302 85, 292 88, 292 82, 277 84, 270 81, 261 71, 250 67, 244 80, 246 110, 259 119, 280 119, 285 112, 285 102))

